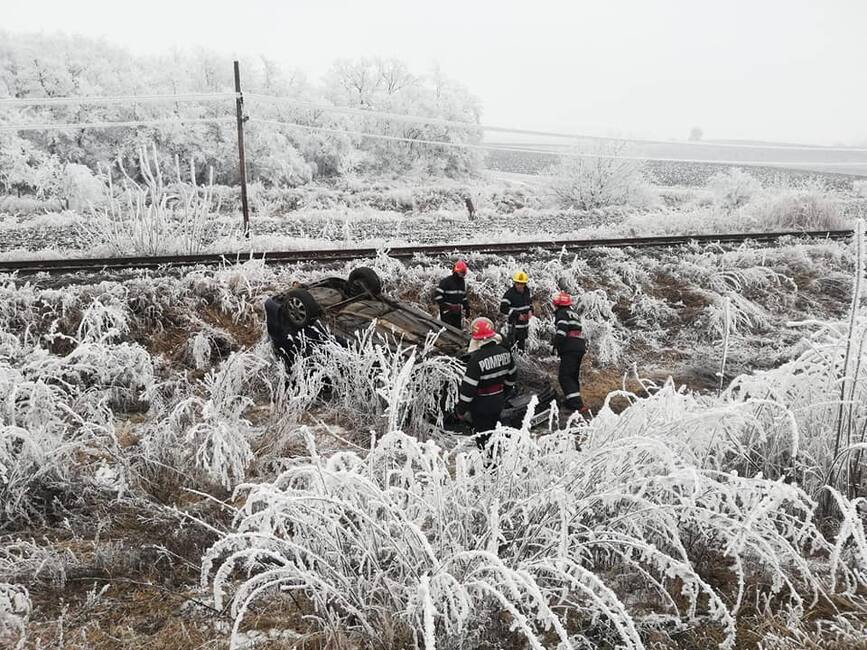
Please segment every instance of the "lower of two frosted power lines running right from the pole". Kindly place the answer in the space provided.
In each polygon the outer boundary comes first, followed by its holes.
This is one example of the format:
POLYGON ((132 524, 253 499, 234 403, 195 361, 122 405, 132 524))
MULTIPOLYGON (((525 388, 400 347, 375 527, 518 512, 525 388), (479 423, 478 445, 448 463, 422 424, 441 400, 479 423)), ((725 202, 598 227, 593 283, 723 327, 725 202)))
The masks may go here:
POLYGON ((613 159, 613 160, 634 160, 634 161, 652 161, 652 162, 674 162, 674 163, 698 163, 705 165, 732 165, 744 167, 780 167, 780 166, 867 166, 867 161, 863 162, 814 162, 814 161, 744 161, 744 160, 700 160, 692 158, 664 158, 654 156, 624 156, 619 154, 602 154, 602 153, 582 153, 577 151, 552 151, 550 149, 529 149, 526 147, 510 147, 493 144, 475 144, 472 142, 446 142, 443 140, 426 140, 423 138, 405 138, 396 135, 385 135, 381 133, 367 133, 364 131, 352 131, 348 129, 336 129, 325 126, 312 126, 309 124, 299 124, 297 122, 283 122, 280 120, 267 120, 262 118, 251 118, 250 122, 255 124, 268 124, 272 126, 285 126, 293 129, 301 129, 306 131, 314 131, 321 133, 332 133, 336 135, 354 135, 362 138, 370 138, 374 140, 387 140, 391 142, 406 142, 409 144, 423 144, 439 147, 451 147, 458 149, 473 149, 480 151, 501 151, 506 153, 532 153, 545 156, 555 156, 564 158, 594 158, 594 159, 613 159))

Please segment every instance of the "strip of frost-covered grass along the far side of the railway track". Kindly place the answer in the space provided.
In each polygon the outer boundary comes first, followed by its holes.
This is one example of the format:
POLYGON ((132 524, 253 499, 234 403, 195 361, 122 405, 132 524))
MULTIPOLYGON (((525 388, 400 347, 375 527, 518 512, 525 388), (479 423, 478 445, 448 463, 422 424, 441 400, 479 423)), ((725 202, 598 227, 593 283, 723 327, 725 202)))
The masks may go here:
MULTIPOLYGON (((144 157, 140 165, 148 170, 145 185, 127 181, 124 191, 107 188, 109 200, 88 214, 58 213, 53 225, 51 216, 4 218, 0 208, 0 229, 4 224, 9 229, 9 243, 0 255, 17 258, 31 250, 30 256, 47 257, 57 249, 61 256, 82 251, 88 256, 244 252, 520 241, 539 235, 592 239, 822 230, 851 227, 867 207, 860 186, 851 181, 851 189, 841 189, 840 182, 820 177, 796 182, 781 176, 762 185, 741 170, 718 173, 705 188, 653 188, 665 197, 662 203, 600 203, 591 197, 563 204, 554 177, 532 183, 501 178, 472 183, 343 179, 335 186, 303 189, 254 185, 248 239, 240 228, 237 188, 168 183, 144 157), (465 197, 476 207, 472 220, 465 197), (69 251, 64 253, 64 248, 69 251)), ((180 178, 180 172, 176 174, 180 178)))

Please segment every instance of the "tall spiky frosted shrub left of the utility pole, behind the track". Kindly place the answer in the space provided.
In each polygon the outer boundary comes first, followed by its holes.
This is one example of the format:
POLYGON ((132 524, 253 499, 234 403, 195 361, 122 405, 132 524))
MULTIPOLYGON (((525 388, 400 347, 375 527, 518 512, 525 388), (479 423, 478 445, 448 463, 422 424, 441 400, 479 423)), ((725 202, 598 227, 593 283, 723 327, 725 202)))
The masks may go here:
POLYGON ((213 173, 211 182, 199 188, 195 165, 191 163, 190 184, 185 185, 176 160, 177 183, 169 191, 155 146, 150 155, 146 148, 140 149, 138 162, 143 184, 127 173, 122 160, 117 162, 123 177, 119 192, 111 174, 105 174, 104 206, 94 206, 90 218, 80 226, 82 234, 93 247, 107 247, 113 255, 201 252, 205 228, 216 211, 213 173))

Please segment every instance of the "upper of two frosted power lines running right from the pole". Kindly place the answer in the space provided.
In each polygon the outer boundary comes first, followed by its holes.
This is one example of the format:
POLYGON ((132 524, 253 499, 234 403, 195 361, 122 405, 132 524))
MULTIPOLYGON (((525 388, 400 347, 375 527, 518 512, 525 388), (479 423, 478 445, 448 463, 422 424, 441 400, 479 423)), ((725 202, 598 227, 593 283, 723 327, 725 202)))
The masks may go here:
POLYGON ((436 117, 424 117, 421 115, 408 115, 406 113, 390 113, 388 111, 368 110, 364 108, 353 108, 349 106, 330 106, 328 104, 318 104, 308 102, 301 99, 293 99, 291 97, 274 97, 272 95, 260 95, 257 93, 248 93, 245 95, 247 99, 260 100, 276 104, 291 104, 299 108, 306 108, 315 111, 323 111, 327 113, 338 113, 344 115, 357 115, 361 117, 381 117, 382 119, 394 120, 398 122, 409 122, 415 124, 432 124, 437 126, 447 126, 460 129, 478 129, 491 133, 508 133, 513 135, 533 135, 546 138, 561 138, 570 140, 591 140, 597 142, 623 142, 629 144, 654 144, 654 145, 677 145, 690 147, 719 147, 728 149, 773 149, 782 151, 819 151, 819 152, 846 152, 846 153, 867 153, 867 148, 856 147, 822 147, 818 145, 782 145, 782 144, 736 144, 732 142, 696 142, 696 141, 681 141, 681 140, 652 140, 641 138, 623 138, 616 136, 598 136, 586 135, 577 133, 562 133, 556 131, 537 131, 532 129, 517 129, 504 126, 491 126, 488 124, 477 124, 473 122, 459 122, 456 120, 446 120, 436 117))

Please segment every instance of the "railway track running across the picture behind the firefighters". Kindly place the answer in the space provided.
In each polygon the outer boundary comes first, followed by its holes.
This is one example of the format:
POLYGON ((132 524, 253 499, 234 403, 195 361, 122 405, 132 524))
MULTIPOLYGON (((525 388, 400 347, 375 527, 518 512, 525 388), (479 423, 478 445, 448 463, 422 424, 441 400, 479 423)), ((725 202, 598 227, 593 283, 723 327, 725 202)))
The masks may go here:
MULTIPOLYGON (((842 240, 852 236, 851 230, 813 230, 806 232, 735 233, 726 235, 687 235, 667 237, 627 237, 617 239, 540 239, 523 242, 498 242, 491 244, 436 244, 424 246, 400 246, 388 249, 395 258, 411 258, 415 255, 441 256, 455 253, 480 253, 508 255, 532 250, 578 251, 592 248, 653 248, 684 246, 690 243, 740 244, 753 242, 773 244, 786 237, 799 239, 842 240)), ((66 274, 79 271, 111 271, 128 269, 155 269, 183 266, 218 266, 236 264, 250 259, 261 259, 266 264, 292 264, 298 262, 339 262, 374 257, 376 248, 332 248, 323 250, 294 250, 252 253, 208 253, 200 255, 165 255, 159 257, 104 257, 51 260, 0 261, 0 273, 49 273, 66 274)))

